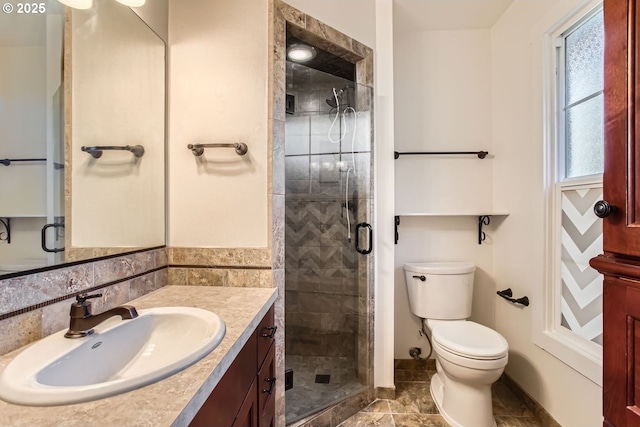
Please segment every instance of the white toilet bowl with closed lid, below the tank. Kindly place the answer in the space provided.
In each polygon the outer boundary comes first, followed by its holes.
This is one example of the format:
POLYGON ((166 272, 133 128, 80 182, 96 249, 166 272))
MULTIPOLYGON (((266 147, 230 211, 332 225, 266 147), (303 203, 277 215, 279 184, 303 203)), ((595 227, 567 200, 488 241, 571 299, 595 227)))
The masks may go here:
POLYGON ((493 427, 491 385, 509 360, 506 340, 475 322, 439 322, 431 342, 437 373, 431 396, 453 427, 493 427))

